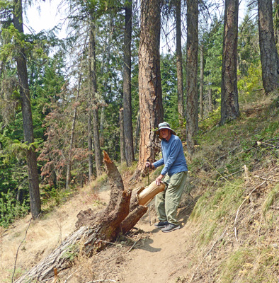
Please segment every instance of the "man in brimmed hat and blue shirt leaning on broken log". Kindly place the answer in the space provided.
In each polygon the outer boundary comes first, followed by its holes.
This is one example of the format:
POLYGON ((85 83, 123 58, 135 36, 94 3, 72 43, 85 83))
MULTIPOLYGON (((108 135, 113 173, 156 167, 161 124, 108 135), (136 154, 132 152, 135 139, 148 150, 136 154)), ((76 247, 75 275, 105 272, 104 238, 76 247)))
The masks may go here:
POLYGON ((164 165, 155 182, 156 185, 160 185, 164 178, 163 183, 166 187, 164 192, 160 192, 155 198, 155 208, 159 222, 154 226, 162 228, 162 232, 171 232, 180 229, 176 214, 186 184, 188 168, 181 139, 176 136, 176 132, 171 129, 169 123, 160 123, 156 134, 159 134, 161 139, 163 158, 154 163, 147 162, 146 166, 157 168, 164 165))

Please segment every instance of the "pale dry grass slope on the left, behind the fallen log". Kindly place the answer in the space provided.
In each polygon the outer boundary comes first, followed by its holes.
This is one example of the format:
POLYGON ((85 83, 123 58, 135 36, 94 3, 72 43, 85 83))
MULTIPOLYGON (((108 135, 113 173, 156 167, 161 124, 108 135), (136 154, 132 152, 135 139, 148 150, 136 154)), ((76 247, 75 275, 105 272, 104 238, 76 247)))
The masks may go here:
POLYGON ((0 231, 0 282, 11 282, 11 275, 16 262, 17 273, 24 272, 49 255, 59 244, 74 231, 76 215, 88 208, 100 209, 101 202, 106 202, 108 193, 103 191, 103 199, 99 199, 96 192, 87 185, 79 190, 71 200, 57 207, 53 212, 42 215, 40 219, 32 221, 28 228, 30 215, 16 221, 8 230, 0 231))

